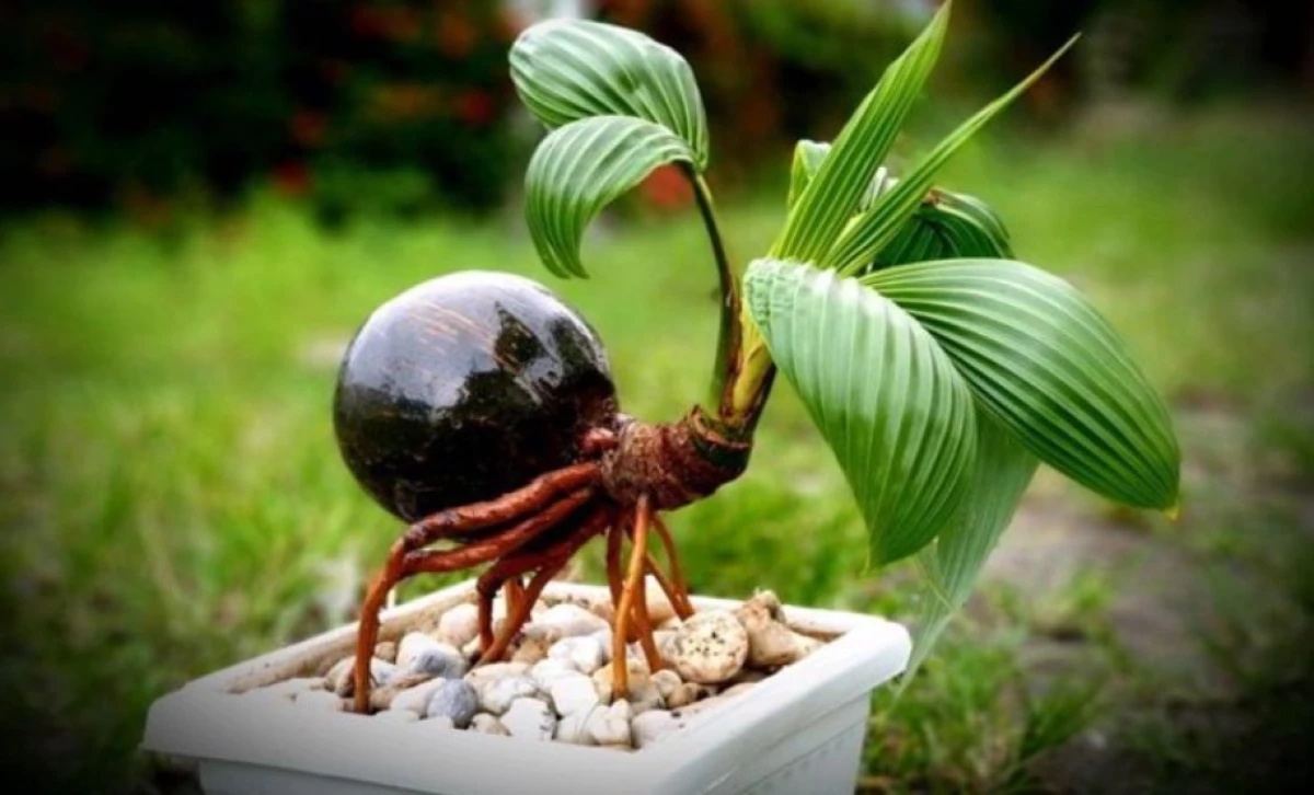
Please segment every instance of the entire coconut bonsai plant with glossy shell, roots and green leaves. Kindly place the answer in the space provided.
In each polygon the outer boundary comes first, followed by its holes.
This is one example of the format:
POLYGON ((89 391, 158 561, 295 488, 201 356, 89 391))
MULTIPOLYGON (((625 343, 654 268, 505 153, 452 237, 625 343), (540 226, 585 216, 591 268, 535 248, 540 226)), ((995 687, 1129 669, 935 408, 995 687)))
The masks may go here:
MULTIPOLYGON (((674 422, 622 414, 600 340, 520 277, 445 276, 374 311, 347 351, 335 424, 357 480, 409 527, 363 606, 357 711, 369 710, 378 611, 399 581, 487 565, 477 581, 480 660, 493 661, 548 579, 597 536, 607 545, 612 656, 623 660, 635 639, 658 668, 637 595, 645 576, 681 616, 692 611, 661 514, 744 472, 777 371, 848 478, 870 561, 924 564, 933 598, 915 664, 966 599, 1039 461, 1118 502, 1176 510, 1168 411, 1113 329, 1071 285, 1013 260, 989 208, 932 181, 1062 51, 907 172, 883 167, 949 8, 833 143, 798 143, 783 225, 746 267, 723 244, 703 176, 707 121, 689 64, 597 22, 549 21, 520 35, 511 75, 549 129, 526 176, 543 264, 586 276, 589 222, 654 168, 678 166, 720 284, 711 388, 674 422), (653 535, 665 565, 649 552, 653 535), (440 541, 452 544, 432 547, 440 541), (499 591, 507 620, 494 632, 499 591)), ((616 693, 625 675, 612 666, 616 693)))

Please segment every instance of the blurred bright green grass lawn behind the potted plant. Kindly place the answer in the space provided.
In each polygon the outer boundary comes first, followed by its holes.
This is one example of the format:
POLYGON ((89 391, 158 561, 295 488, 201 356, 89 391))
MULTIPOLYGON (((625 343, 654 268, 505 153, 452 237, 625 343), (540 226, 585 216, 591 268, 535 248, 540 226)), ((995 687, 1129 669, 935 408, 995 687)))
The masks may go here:
MULTIPOLYGON (((1311 164, 1298 114, 1223 108, 993 139, 943 184, 995 205, 1020 259, 1088 290, 1176 406, 1223 406, 1267 428, 1305 478, 1311 164)), ((765 251, 782 202, 724 204, 732 254, 765 251)), ((591 280, 553 289, 607 340, 624 407, 674 418, 706 388, 715 338, 696 218, 603 223, 586 261, 591 280)), ((548 281, 518 216, 365 218, 328 233, 256 197, 168 235, 60 217, 4 230, 0 683, 9 717, 34 721, 24 731, 78 749, 49 775, 105 791, 131 781, 152 698, 350 620, 360 577, 398 528, 338 460, 338 351, 384 300, 465 268, 548 281)), ((749 473, 674 527, 703 593, 771 587, 787 602, 895 615, 912 595, 897 572, 862 570, 842 477, 783 382, 749 473)), ((590 551, 590 573, 597 564, 590 551)), ((1085 702, 1071 694, 1031 717, 1008 703, 1025 635, 959 627, 908 698, 880 702, 874 786, 1016 783, 1031 752, 1077 731, 1085 702)))

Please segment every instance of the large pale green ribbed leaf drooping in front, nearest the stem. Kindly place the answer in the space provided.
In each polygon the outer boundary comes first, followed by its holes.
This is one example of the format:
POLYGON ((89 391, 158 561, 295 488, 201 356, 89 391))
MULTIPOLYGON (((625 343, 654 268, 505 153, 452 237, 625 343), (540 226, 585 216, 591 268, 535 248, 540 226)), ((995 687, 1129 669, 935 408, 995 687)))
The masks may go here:
POLYGON ((925 547, 966 494, 971 394, 936 340, 857 280, 757 260, 748 305, 820 428, 870 532, 875 562, 925 547))

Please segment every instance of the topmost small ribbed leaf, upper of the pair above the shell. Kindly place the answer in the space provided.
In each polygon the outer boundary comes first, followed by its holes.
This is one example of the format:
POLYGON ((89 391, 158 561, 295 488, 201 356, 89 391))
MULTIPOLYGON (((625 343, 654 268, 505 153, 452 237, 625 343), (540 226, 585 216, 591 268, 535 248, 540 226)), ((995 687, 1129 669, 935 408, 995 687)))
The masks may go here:
POLYGON ((707 114, 689 63, 666 45, 615 25, 548 20, 511 46, 511 79, 549 127, 591 116, 632 116, 685 139, 707 167, 707 114))

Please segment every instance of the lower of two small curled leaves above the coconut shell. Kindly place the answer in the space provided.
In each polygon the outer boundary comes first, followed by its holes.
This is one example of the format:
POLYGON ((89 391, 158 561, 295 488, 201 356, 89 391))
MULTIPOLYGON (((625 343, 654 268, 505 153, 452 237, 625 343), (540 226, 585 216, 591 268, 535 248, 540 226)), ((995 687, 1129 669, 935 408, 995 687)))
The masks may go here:
POLYGON ((689 145, 664 126, 625 116, 594 116, 548 134, 526 172, 526 214, 549 271, 585 277, 585 227, 664 163, 691 163, 689 145))

